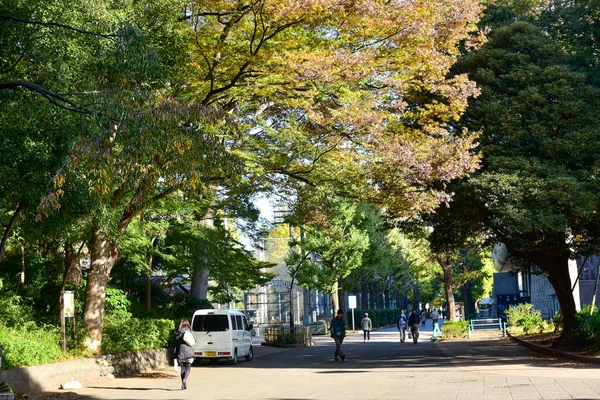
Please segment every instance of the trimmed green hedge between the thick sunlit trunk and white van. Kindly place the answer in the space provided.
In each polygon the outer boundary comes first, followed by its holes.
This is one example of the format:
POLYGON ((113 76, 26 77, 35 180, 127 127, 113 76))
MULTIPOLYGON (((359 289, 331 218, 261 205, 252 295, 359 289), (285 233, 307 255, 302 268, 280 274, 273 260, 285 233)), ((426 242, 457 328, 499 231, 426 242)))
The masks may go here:
POLYGON ((105 354, 160 349, 170 345, 175 322, 106 316, 102 332, 102 352, 105 354))

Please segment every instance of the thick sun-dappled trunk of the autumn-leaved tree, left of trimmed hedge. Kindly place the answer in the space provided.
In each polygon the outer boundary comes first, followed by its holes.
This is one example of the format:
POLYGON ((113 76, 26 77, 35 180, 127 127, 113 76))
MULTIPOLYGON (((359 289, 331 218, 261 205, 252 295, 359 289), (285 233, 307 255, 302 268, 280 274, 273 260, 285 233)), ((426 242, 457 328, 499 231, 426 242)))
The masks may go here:
POLYGON ((104 305, 106 287, 110 280, 110 271, 121 255, 115 242, 106 238, 104 232, 97 227, 92 228, 91 259, 92 265, 87 279, 85 307, 83 319, 91 337, 86 341, 88 350, 95 353, 102 345, 102 324, 104 322, 104 305))

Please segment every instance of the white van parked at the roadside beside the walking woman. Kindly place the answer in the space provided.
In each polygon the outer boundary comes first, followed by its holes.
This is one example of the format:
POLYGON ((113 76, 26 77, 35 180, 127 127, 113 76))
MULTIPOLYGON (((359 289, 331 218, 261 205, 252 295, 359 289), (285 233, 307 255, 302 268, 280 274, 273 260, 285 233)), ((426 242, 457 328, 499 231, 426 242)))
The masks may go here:
POLYGON ((252 361, 252 336, 246 316, 236 310, 196 310, 192 317, 192 333, 196 339, 194 357, 217 362, 227 359, 237 364, 238 358, 252 361))

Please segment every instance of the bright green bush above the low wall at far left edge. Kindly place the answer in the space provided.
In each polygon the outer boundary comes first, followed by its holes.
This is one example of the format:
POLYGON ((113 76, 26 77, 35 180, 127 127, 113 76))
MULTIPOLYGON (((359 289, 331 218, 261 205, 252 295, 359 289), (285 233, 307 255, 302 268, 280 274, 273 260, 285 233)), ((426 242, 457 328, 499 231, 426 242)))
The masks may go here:
POLYGON ((18 329, 0 325, 2 367, 5 369, 50 364, 64 359, 60 330, 26 324, 18 329))

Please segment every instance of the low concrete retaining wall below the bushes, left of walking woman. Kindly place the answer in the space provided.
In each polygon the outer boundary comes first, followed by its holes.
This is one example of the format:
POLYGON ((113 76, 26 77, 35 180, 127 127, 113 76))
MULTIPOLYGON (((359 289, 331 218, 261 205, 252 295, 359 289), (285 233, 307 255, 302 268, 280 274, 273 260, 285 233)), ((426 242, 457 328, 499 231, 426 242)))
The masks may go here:
POLYGON ((73 378, 84 386, 114 376, 126 376, 169 366, 167 349, 109 354, 36 367, 2 371, 0 381, 21 393, 39 393, 60 388, 73 378))

